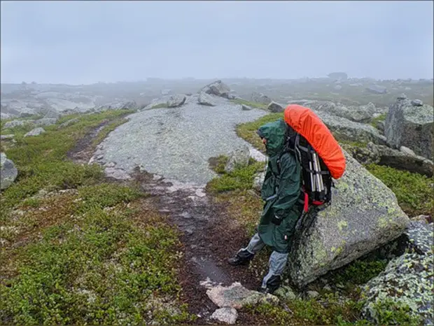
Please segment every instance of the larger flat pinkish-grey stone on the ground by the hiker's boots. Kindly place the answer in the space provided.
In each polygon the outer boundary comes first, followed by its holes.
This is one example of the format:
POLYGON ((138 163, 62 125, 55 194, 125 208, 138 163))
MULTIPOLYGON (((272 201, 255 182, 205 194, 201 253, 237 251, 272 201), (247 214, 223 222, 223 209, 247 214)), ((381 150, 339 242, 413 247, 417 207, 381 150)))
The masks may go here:
POLYGON ((248 304, 262 302, 278 303, 279 299, 274 295, 265 295, 257 291, 248 290, 241 283, 232 283, 228 287, 216 285, 207 290, 207 295, 216 306, 220 308, 229 307, 241 309, 248 304))

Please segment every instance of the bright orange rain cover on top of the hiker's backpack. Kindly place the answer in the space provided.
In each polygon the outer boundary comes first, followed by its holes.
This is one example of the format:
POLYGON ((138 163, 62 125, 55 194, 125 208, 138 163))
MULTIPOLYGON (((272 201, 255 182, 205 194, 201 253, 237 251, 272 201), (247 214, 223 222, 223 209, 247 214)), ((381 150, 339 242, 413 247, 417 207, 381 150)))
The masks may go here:
POLYGON ((318 115, 297 104, 290 104, 283 113, 285 122, 302 135, 323 159, 332 178, 339 179, 345 171, 345 157, 335 137, 318 115))

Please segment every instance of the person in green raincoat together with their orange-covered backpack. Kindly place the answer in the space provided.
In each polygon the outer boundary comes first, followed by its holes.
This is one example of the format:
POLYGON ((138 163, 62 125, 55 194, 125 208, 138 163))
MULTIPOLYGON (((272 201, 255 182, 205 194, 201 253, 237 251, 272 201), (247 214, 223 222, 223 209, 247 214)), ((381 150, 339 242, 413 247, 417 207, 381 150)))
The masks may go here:
POLYGON ((248 246, 228 260, 248 264, 262 248, 271 247, 269 271, 260 287, 265 293, 281 285, 297 225, 309 227, 303 217, 310 208, 317 211, 331 204, 332 178, 341 178, 346 166, 342 148, 313 111, 290 104, 283 117, 258 129, 269 157, 261 188, 264 210, 248 246))

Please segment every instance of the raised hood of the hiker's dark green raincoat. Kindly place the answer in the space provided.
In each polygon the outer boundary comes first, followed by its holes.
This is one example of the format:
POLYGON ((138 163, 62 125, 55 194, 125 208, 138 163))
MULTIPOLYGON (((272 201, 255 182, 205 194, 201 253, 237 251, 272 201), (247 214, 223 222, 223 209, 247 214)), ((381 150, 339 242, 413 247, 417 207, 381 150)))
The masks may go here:
POLYGON ((285 133, 286 122, 283 119, 269 122, 258 129, 258 134, 267 139, 265 148, 267 148, 269 157, 280 155, 283 152, 285 149, 285 133))

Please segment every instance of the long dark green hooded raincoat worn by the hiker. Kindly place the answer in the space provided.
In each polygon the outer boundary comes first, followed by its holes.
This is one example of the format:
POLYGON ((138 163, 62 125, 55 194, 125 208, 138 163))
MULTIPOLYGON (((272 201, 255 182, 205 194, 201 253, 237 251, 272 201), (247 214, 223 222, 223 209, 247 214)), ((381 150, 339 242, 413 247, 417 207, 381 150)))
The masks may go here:
POLYGON ((265 200, 265 204, 258 225, 258 234, 273 250, 278 253, 288 253, 295 225, 302 213, 302 204, 298 201, 300 163, 293 153, 283 153, 286 132, 286 122, 283 119, 269 122, 258 130, 267 139, 266 148, 269 156, 261 189, 261 197, 265 200), (278 160, 280 160, 280 171, 277 166, 278 160), (271 222, 273 215, 281 218, 280 225, 271 222))

